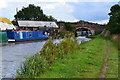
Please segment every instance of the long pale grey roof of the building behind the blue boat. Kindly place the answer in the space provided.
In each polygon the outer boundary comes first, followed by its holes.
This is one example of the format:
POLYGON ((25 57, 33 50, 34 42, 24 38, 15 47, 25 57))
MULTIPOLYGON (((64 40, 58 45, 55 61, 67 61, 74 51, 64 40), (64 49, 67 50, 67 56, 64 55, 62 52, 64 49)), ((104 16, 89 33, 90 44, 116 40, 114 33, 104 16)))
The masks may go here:
POLYGON ((22 21, 19 20, 20 27, 53 27, 58 28, 58 25, 53 21, 22 21))

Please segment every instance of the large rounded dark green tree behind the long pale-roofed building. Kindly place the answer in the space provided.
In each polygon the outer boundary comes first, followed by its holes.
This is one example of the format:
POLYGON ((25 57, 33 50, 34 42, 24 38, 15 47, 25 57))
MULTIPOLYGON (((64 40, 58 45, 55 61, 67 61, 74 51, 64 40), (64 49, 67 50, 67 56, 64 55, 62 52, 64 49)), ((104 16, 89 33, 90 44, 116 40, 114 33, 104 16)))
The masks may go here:
POLYGON ((45 15, 39 6, 34 4, 23 7, 14 17, 15 20, 56 21, 52 16, 45 15))

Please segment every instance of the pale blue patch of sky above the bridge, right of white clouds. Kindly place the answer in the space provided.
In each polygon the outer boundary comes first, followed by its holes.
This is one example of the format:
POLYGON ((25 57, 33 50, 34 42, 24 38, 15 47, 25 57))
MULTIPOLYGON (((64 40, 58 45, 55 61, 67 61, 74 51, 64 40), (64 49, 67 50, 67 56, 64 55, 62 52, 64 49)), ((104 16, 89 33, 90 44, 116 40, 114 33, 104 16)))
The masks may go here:
POLYGON ((76 19, 87 21, 100 21, 109 19, 108 13, 115 2, 80 2, 74 5, 72 13, 76 19))

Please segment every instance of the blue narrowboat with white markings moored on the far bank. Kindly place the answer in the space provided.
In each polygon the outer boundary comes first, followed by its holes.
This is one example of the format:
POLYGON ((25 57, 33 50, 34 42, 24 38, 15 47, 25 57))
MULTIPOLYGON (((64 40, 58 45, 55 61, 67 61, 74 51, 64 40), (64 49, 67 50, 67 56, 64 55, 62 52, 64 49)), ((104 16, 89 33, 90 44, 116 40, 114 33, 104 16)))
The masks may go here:
POLYGON ((27 41, 48 39, 48 35, 44 35, 42 31, 6 31, 8 41, 27 41))

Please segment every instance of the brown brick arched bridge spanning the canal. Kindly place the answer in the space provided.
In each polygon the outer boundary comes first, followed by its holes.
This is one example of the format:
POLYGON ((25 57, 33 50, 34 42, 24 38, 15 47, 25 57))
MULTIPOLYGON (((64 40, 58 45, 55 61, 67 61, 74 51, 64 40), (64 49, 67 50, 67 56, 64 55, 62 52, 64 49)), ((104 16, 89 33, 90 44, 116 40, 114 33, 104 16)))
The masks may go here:
MULTIPOLYGON (((81 29, 89 30, 92 33, 92 35, 96 35, 96 34, 101 33, 105 28, 105 25, 101 25, 101 24, 97 24, 97 23, 90 23, 90 22, 73 22, 71 24, 78 31, 81 29)), ((60 27, 61 30, 65 30, 65 23, 64 22, 58 23, 58 26, 60 27)))

